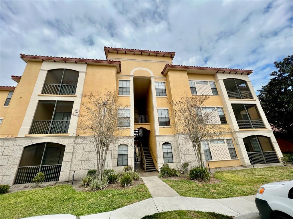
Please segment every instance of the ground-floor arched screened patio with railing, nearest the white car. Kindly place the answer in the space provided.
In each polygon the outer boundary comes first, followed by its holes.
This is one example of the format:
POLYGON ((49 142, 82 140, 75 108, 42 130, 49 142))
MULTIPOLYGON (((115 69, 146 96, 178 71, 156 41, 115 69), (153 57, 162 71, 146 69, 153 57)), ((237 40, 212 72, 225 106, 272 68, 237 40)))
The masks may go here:
POLYGON ((243 138, 243 142, 251 164, 280 163, 269 137, 251 135, 243 138))

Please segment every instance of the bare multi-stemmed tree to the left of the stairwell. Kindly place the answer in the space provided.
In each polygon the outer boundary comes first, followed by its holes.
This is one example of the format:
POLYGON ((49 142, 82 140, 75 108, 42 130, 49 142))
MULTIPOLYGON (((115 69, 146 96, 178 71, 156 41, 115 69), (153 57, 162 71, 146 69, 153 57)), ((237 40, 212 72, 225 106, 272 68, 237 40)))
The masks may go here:
POLYGON ((82 100, 80 110, 76 109, 73 115, 79 117, 77 130, 89 135, 95 147, 96 178, 102 180, 109 146, 117 140, 115 136, 121 136, 121 130, 118 128, 118 109, 127 106, 119 104, 117 95, 108 90, 105 93, 82 94, 82 100))

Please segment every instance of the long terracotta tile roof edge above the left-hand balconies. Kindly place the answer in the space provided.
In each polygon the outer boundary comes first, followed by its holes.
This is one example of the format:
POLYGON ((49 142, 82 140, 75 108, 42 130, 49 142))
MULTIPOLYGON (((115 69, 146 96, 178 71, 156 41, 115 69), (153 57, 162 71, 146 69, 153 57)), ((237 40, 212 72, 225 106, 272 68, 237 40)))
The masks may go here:
POLYGON ((67 57, 55 57, 55 56, 42 56, 42 55, 25 55, 20 54, 20 58, 28 62, 29 60, 33 61, 53 61, 53 62, 75 62, 75 63, 91 63, 94 65, 106 65, 106 66, 115 66, 117 72, 121 72, 121 63, 120 61, 113 60, 100 60, 100 59, 84 59, 84 58, 67 58, 67 57))

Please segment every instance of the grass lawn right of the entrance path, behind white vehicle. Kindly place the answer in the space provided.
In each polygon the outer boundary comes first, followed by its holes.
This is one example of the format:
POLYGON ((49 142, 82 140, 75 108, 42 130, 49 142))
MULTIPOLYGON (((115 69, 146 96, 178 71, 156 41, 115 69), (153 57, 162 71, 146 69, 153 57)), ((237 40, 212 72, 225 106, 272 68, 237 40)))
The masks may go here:
POLYGON ((219 183, 198 183, 192 180, 163 180, 178 194, 209 199, 248 196, 256 194, 266 183, 293 179, 292 167, 265 167, 214 173, 219 183))

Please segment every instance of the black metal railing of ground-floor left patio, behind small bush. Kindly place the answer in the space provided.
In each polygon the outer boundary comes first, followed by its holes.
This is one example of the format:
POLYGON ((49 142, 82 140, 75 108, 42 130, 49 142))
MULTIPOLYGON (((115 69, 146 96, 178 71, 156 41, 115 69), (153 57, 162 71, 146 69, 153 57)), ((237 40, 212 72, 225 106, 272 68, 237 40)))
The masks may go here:
MULTIPOLYGON (((41 172, 45 173, 44 182, 58 181, 61 171, 61 164, 43 165, 41 172)), ((18 167, 16 180, 14 184, 33 183, 33 178, 40 171, 40 166, 22 166, 18 167)))

